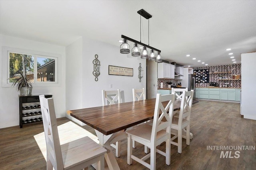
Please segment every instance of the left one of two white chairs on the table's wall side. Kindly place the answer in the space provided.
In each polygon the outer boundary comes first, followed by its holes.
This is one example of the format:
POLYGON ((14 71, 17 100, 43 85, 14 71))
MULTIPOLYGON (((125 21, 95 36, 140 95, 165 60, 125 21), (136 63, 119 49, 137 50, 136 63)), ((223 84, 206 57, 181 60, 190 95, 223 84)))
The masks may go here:
MULTIPOLYGON (((121 103, 120 90, 102 90, 102 104, 103 106, 121 103)), ((116 157, 120 157, 120 143, 119 141, 127 139, 127 134, 120 131, 116 137, 110 141, 110 145, 116 150, 116 157)))

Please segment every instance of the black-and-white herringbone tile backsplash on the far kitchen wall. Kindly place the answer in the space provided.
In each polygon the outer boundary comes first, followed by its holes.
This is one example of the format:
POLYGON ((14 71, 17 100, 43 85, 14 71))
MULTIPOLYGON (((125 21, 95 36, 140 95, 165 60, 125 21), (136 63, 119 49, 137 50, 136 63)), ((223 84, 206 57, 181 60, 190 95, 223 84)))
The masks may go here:
MULTIPOLYGON (((241 80, 220 80, 220 76, 225 77, 226 79, 233 79, 232 75, 241 75, 241 64, 231 64, 231 65, 221 65, 221 66, 207 66, 207 67, 196 67, 194 68, 194 73, 196 70, 208 70, 209 71, 209 81, 198 82, 196 83, 196 87, 208 87, 210 86, 210 82, 216 82, 218 86, 222 86, 225 83, 228 83, 228 87, 232 88, 241 88, 241 80), (231 73, 218 73, 212 74, 216 72, 231 72, 231 73)), ((198 77, 199 78, 199 77, 198 77)))

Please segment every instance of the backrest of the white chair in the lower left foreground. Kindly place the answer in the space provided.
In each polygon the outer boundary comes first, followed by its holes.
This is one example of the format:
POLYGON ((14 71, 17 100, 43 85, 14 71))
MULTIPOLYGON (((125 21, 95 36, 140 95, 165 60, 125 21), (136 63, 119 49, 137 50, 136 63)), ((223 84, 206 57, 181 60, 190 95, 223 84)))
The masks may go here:
MULTIPOLYGON (((53 98, 39 96, 46 139, 47 157, 55 170, 64 169, 53 98)), ((47 159, 48 159, 47 158, 47 159)))

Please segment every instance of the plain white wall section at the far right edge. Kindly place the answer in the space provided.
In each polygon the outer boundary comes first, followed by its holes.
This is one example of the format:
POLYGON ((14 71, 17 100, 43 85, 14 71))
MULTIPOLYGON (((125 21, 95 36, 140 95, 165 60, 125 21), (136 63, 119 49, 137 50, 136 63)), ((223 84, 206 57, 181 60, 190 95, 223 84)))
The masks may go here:
POLYGON ((256 120, 255 96, 256 90, 256 52, 245 53, 241 55, 241 78, 242 78, 242 94, 241 105, 242 115, 246 119, 256 120))

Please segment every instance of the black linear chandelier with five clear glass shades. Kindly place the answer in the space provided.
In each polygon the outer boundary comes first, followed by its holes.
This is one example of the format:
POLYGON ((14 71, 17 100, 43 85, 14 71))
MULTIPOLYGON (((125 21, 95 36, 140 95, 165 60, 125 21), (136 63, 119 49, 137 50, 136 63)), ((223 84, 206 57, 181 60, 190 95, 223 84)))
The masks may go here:
POLYGON ((158 50, 154 47, 149 46, 149 19, 152 18, 152 16, 143 9, 139 10, 137 13, 140 14, 140 41, 121 35, 121 38, 123 38, 123 43, 120 46, 120 53, 129 54, 130 45, 128 44, 128 41, 132 41, 134 43, 134 47, 132 48, 132 56, 134 57, 140 56, 140 58, 142 59, 148 59, 148 60, 152 60, 160 63, 162 62, 162 56, 160 55, 161 50, 158 50), (148 20, 148 45, 141 42, 141 16, 143 16, 148 20), (138 47, 138 45, 143 46, 142 51, 140 51, 140 48, 138 47), (147 48, 151 49, 150 54, 148 54, 147 48), (156 53, 154 53, 154 51, 157 51, 157 55, 156 53))

